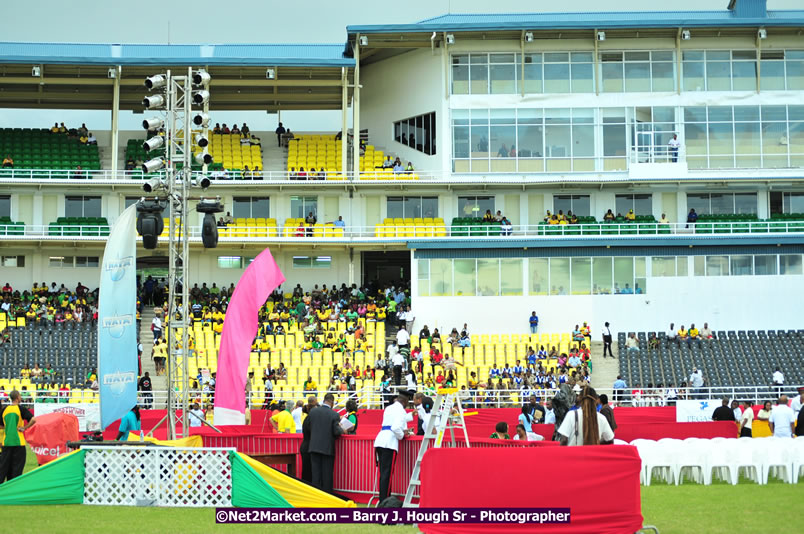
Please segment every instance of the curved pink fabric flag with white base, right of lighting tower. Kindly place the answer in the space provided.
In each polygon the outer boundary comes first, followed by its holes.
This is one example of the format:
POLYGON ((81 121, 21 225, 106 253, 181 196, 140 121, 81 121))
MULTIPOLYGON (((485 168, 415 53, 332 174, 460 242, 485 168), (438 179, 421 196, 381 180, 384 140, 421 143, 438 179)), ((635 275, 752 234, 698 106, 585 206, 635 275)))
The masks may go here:
POLYGON ((215 426, 246 424, 246 381, 258 314, 285 275, 267 248, 246 268, 223 321, 215 383, 215 426))

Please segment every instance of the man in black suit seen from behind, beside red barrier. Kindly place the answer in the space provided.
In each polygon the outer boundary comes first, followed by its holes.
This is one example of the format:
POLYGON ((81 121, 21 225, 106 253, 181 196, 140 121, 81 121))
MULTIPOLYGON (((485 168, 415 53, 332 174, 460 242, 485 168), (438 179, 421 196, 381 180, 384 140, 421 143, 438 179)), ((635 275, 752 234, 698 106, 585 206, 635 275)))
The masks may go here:
POLYGON ((327 393, 324 402, 310 411, 310 460, 313 486, 332 493, 335 472, 335 438, 343 434, 341 418, 332 409, 335 396, 327 393))

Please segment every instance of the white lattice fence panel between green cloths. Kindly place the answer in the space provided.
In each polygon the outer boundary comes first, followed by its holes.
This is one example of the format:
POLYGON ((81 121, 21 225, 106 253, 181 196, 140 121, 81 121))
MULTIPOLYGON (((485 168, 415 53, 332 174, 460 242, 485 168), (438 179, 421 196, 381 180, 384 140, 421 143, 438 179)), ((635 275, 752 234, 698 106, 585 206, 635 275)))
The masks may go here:
POLYGON ((233 449, 85 447, 84 504, 232 505, 233 449))

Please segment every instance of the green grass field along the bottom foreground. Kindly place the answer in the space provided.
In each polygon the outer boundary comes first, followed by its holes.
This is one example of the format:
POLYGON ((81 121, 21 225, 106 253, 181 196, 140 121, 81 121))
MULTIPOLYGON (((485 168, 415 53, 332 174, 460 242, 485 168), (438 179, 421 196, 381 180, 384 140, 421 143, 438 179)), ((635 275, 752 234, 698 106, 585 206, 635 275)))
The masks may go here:
MULTIPOLYGON (((36 467, 28 454, 26 471, 36 467)), ((578 498, 581 498, 580 496, 578 498)), ((592 496, 593 498, 593 496, 592 496)), ((804 483, 784 484, 772 480, 766 486, 742 481, 737 486, 715 482, 711 486, 692 483, 664 484, 642 488, 642 515, 645 525, 655 525, 662 534, 739 534, 771 533, 785 530, 778 524, 779 511, 787 511, 794 527, 795 510, 801 509, 804 483)), ((14 534, 71 533, 92 530, 102 534, 130 534, 136 525, 149 533, 257 532, 266 525, 216 525, 214 510, 191 508, 134 508, 101 506, 5 506, 0 508, 11 520, 14 534)), ((277 534, 370 534, 418 532, 412 526, 377 525, 271 525, 277 534)), ((789 530, 789 528, 788 528, 789 530)))

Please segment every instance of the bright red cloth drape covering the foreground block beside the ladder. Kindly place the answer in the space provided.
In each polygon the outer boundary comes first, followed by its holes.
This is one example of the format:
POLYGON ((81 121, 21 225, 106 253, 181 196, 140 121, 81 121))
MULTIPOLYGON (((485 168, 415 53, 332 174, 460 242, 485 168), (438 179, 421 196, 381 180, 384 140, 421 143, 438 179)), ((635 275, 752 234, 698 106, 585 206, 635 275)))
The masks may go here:
POLYGON ((419 528, 427 534, 636 532, 642 527, 640 466, 630 445, 430 449, 422 461, 422 507, 569 507, 571 523, 419 528), (549 483, 534 493, 539 481, 549 483))

